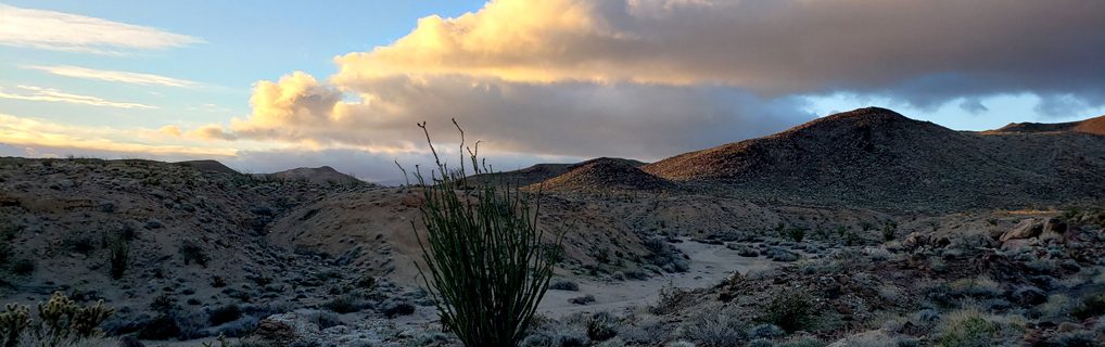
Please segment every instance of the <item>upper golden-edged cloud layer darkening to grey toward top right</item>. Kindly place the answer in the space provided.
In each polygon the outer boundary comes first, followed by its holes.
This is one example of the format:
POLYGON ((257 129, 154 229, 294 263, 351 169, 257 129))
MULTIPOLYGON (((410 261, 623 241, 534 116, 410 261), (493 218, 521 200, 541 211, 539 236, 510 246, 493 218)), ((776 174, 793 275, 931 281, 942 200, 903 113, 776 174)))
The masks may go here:
POLYGON ((337 57, 338 84, 389 74, 853 91, 929 106, 970 95, 1105 102, 1105 2, 492 1, 337 57))

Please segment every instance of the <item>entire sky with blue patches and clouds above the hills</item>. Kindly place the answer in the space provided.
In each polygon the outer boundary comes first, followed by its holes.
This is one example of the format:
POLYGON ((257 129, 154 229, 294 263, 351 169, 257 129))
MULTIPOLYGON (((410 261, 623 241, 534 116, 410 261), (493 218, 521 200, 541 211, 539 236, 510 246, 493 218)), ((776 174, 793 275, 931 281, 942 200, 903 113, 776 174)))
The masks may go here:
POLYGON ((645 161, 866 106, 1105 115, 1105 1, 0 1, 0 156, 396 182, 451 118, 498 169, 645 161))

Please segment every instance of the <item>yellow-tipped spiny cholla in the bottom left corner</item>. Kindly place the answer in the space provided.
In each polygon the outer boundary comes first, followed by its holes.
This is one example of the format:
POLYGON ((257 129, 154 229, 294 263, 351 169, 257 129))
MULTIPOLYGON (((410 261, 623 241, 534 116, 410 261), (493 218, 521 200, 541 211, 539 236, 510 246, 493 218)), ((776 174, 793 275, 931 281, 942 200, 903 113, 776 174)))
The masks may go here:
POLYGON ((0 313, 0 346, 30 341, 33 346, 57 347, 102 337, 101 324, 115 313, 103 301, 81 306, 62 293, 54 293, 38 308, 39 322, 33 322, 30 307, 7 305, 0 313))

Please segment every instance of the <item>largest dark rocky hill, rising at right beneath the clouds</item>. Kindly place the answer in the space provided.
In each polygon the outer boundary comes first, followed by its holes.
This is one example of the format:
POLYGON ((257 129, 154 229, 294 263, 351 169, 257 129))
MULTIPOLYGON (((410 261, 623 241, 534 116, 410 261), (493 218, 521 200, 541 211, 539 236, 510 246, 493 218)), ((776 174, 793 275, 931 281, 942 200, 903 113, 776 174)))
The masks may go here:
MULTIPOLYGON (((1094 126, 1087 124, 1074 127, 1094 126)), ((871 107, 642 169, 769 198, 906 208, 1017 206, 1105 196, 1105 137, 956 132, 871 107)))

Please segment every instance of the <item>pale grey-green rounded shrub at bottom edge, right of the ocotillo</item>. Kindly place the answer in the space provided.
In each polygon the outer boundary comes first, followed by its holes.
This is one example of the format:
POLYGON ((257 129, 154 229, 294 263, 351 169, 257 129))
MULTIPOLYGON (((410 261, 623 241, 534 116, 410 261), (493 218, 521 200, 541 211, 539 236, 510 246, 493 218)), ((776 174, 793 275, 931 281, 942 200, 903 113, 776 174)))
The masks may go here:
POLYGON ((680 336, 704 346, 740 346, 747 338, 745 322, 736 313, 720 307, 707 307, 692 314, 682 326, 680 336))

